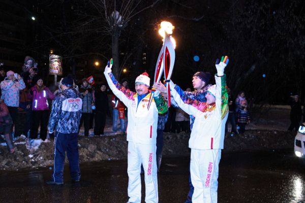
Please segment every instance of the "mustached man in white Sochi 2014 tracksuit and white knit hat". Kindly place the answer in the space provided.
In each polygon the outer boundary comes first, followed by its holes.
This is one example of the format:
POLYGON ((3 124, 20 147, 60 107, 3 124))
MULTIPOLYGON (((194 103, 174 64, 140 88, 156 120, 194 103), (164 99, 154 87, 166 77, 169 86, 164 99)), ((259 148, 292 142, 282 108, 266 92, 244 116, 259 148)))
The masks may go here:
POLYGON ((145 177, 145 202, 158 202, 158 180, 156 162, 156 138, 158 113, 167 112, 167 104, 156 91, 149 109, 151 93, 148 91, 150 79, 147 73, 136 78, 136 93, 121 86, 106 66, 105 77, 112 92, 128 108, 128 202, 141 202, 141 164, 145 177))

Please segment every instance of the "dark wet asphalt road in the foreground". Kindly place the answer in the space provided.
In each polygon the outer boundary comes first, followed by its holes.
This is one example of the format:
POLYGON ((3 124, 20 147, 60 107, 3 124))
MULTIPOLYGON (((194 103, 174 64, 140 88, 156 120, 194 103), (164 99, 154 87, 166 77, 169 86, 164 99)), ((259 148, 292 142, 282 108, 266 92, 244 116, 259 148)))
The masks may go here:
MULTIPOLYGON (((188 193, 188 158, 166 158, 158 174, 159 202, 184 202, 188 193)), ((218 202, 305 202, 305 164, 293 150, 223 153, 218 202)), ((82 179, 49 186, 49 168, 1 172, 0 202, 127 202, 127 162, 81 165, 82 179)), ((142 202, 144 202, 142 177, 142 202)))

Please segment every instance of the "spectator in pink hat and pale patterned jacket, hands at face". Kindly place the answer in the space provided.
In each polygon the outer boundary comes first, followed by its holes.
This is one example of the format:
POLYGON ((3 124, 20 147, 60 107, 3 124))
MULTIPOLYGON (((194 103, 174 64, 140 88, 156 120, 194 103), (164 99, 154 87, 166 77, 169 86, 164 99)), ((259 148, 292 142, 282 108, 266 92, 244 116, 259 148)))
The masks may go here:
POLYGON ((25 84, 19 74, 15 74, 13 71, 8 71, 7 77, 1 82, 0 86, 2 90, 1 97, 9 109, 14 125, 14 123, 16 123, 19 107, 19 91, 25 88, 25 84))

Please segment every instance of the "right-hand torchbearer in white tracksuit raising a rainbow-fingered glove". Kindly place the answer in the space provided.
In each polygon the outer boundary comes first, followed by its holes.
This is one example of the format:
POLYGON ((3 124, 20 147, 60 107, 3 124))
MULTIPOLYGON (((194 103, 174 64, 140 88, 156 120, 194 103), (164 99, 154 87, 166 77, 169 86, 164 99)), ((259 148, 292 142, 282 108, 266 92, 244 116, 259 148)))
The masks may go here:
POLYGON ((189 100, 185 104, 170 82, 171 94, 177 105, 195 116, 189 147, 191 178, 194 185, 192 202, 217 202, 218 165, 224 148, 225 124, 228 118, 228 94, 224 69, 226 61, 216 64, 216 85, 207 90, 206 103, 189 100))

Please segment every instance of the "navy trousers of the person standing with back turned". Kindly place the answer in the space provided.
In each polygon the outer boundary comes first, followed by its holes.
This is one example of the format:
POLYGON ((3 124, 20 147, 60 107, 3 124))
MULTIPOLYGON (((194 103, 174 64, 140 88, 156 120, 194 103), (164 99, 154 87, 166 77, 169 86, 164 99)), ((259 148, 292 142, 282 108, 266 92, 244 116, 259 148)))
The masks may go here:
POLYGON ((67 157, 70 166, 70 176, 72 180, 80 179, 79 153, 77 143, 78 133, 55 132, 54 167, 51 177, 52 181, 64 182, 64 164, 67 157))

